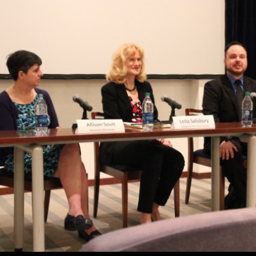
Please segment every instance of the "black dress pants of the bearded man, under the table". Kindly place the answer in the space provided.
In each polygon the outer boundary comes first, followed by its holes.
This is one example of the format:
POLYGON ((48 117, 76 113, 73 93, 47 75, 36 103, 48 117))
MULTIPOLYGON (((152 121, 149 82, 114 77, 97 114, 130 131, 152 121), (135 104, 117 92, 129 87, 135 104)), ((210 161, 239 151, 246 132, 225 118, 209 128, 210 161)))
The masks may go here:
MULTIPOLYGON (((230 157, 229 160, 222 160, 221 158, 220 164, 230 185, 234 188, 237 203, 244 205, 246 204, 247 170, 243 166, 243 155, 247 156, 247 143, 243 143, 237 138, 231 142, 237 147, 238 152, 234 150, 233 159, 230 157)), ((207 153, 211 152, 208 150, 207 153)))

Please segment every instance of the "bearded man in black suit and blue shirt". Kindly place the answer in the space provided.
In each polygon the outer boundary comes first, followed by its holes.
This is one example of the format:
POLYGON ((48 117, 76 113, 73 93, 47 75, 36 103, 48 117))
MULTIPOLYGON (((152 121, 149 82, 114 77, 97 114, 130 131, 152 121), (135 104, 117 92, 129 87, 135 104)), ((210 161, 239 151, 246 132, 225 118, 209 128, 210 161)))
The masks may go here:
MULTIPOLYGON (((245 77, 247 50, 239 42, 226 46, 224 64, 226 75, 208 82, 204 87, 203 113, 213 115, 216 123, 242 121, 242 101, 245 92, 256 92, 256 81, 245 77)), ((256 105, 253 108, 256 117, 256 105)), ((204 152, 211 153, 211 139, 205 138, 204 152)), ((247 144, 239 138, 221 138, 220 158, 222 171, 230 182, 225 198, 225 209, 246 206, 246 172, 243 161, 247 156, 247 144)), ((256 157, 256 156, 255 156, 256 157)))

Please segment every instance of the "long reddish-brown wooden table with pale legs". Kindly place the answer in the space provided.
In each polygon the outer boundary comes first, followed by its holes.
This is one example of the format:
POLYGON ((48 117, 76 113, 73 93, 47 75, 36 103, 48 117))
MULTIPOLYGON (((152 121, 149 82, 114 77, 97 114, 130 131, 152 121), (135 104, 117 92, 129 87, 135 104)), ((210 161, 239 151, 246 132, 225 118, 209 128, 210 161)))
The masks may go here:
POLYGON ((220 137, 239 137, 248 143, 247 164, 247 207, 255 207, 256 186, 256 125, 242 128, 241 123, 216 124, 216 129, 181 130, 157 129, 143 132, 139 129, 126 129, 125 133, 115 134, 76 134, 71 129, 50 130, 49 135, 37 137, 32 131, 0 132, 0 147, 14 147, 14 245, 16 250, 23 248, 24 229, 24 152, 32 154, 33 164, 33 242, 34 251, 45 251, 44 240, 44 188, 43 188, 43 145, 106 142, 127 140, 150 140, 156 138, 212 138, 212 210, 219 211, 220 187, 220 137))

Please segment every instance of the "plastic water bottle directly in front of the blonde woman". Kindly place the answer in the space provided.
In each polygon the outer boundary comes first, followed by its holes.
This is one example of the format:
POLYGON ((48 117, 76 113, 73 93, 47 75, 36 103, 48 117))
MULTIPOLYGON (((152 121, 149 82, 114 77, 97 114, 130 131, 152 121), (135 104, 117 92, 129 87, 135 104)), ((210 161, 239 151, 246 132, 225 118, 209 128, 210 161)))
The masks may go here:
POLYGON ((152 132, 154 128, 154 104, 150 98, 150 93, 146 93, 146 98, 142 104, 143 131, 152 132))

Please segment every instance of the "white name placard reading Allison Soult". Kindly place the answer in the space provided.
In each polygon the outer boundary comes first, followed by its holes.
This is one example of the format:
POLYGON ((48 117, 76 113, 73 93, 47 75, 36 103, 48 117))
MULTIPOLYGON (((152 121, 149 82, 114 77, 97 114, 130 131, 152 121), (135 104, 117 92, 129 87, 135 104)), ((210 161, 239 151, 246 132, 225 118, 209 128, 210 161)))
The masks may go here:
POLYGON ((76 133, 119 133, 125 132, 122 119, 77 120, 76 133))

